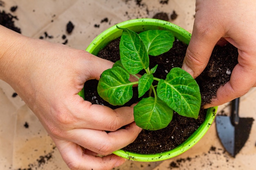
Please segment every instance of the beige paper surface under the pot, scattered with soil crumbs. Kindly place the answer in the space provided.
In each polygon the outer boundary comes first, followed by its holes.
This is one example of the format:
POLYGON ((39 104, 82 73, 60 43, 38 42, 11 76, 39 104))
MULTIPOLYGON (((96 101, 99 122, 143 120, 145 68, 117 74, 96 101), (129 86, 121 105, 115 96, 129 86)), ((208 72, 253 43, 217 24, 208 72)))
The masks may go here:
MULTIPOLYGON (((47 41, 62 43, 62 35, 67 36, 67 45, 76 49, 86 49, 90 42, 108 27, 135 18, 152 18, 158 12, 166 12, 169 17, 173 10, 178 17, 174 24, 192 32, 195 0, 4 0, 0 10, 10 12, 10 7, 18 6, 11 13, 16 15, 15 25, 22 34, 39 38, 44 32, 53 38, 47 41), (101 20, 108 18, 108 22, 101 20), (67 22, 75 25, 71 34, 65 31, 67 22), (94 24, 99 24, 95 28, 94 24)), ((68 170, 37 117, 29 110, 19 96, 12 97, 13 89, 0 81, 0 169, 1 170, 68 170), (29 125, 25 128, 25 123, 29 125)), ((240 117, 256 119, 256 90, 253 88, 241 98, 240 117)), ((229 113, 229 105, 219 107, 229 113)), ((127 161, 115 170, 255 170, 256 160, 256 123, 251 135, 236 158, 224 152, 216 135, 215 123, 189 151, 161 162, 141 163, 127 161), (216 150, 211 150, 211 147, 216 150), (224 153, 223 153, 224 152, 224 153), (187 160, 186 158, 190 158, 187 160), (186 161, 181 161, 186 159, 186 161), (171 168, 175 162, 178 168, 171 168)))

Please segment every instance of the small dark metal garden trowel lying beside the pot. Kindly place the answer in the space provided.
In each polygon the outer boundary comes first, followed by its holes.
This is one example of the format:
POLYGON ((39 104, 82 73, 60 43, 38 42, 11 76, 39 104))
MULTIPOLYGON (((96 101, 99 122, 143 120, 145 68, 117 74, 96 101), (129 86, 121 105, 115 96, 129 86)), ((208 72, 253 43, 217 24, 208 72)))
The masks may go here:
POLYGON ((241 118, 238 115, 239 98, 231 102, 231 115, 216 116, 216 129, 218 137, 225 150, 229 152, 232 157, 243 148, 247 141, 251 128, 253 118, 241 118))

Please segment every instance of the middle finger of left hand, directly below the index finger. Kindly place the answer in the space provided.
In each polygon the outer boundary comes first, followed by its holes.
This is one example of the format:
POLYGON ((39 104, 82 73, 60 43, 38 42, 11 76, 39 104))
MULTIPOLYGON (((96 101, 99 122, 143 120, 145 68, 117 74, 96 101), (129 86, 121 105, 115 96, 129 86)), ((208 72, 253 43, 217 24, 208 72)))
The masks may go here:
POLYGON ((67 133, 67 138, 92 152, 109 155, 115 150, 132 143, 141 132, 135 122, 114 132, 94 129, 73 129, 67 133))

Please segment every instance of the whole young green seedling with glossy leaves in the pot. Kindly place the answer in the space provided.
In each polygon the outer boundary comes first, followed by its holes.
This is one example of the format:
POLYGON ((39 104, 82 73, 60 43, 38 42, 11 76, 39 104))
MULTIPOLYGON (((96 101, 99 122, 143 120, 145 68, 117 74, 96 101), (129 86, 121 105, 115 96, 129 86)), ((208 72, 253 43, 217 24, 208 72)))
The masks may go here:
MULTIPOLYGON (((112 68, 104 71, 99 79, 99 95, 112 105, 124 105, 132 98, 132 86, 137 84, 139 97, 149 91, 148 97, 141 99, 134 107, 137 126, 146 130, 165 128, 172 120, 173 110, 179 115, 197 119, 200 106, 200 89, 193 77, 181 68, 172 68, 166 79, 153 74, 157 65, 149 67, 149 55, 157 56, 173 47, 175 37, 166 30, 148 30, 135 33, 120 28, 120 60, 112 68), (138 77, 136 74, 144 70, 138 77), (138 79, 130 82, 130 76, 138 79), (153 85, 153 82, 156 82, 153 85)), ((140 72, 141 73, 141 72, 140 72)))

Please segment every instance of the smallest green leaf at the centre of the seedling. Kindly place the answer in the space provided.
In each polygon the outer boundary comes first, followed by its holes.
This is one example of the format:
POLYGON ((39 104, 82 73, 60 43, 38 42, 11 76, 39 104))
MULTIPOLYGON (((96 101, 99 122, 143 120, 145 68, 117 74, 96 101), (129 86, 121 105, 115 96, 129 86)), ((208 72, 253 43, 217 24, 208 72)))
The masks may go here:
POLYGON ((149 90, 151 84, 154 81, 154 76, 152 74, 144 74, 140 77, 139 83, 138 83, 138 92, 139 92, 139 97, 143 96, 146 91, 149 90))

